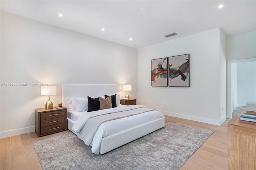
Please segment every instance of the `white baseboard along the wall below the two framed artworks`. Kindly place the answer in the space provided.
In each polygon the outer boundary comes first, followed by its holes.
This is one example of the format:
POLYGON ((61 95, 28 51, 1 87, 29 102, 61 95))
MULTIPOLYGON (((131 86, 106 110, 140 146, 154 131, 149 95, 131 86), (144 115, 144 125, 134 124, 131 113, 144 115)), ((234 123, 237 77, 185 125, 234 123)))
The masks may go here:
POLYGON ((167 115, 167 116, 178 117, 178 118, 182 118, 182 119, 188 119, 188 120, 191 120, 191 121, 208 123, 208 124, 218 125, 218 126, 222 125, 222 123, 226 120, 226 115, 224 117, 222 117, 222 119, 220 121, 216 121, 216 120, 213 120, 213 119, 195 117, 195 116, 190 116, 190 115, 183 115, 183 114, 180 114, 180 113, 173 113, 173 112, 167 112, 167 111, 160 111, 160 112, 164 115, 167 115))

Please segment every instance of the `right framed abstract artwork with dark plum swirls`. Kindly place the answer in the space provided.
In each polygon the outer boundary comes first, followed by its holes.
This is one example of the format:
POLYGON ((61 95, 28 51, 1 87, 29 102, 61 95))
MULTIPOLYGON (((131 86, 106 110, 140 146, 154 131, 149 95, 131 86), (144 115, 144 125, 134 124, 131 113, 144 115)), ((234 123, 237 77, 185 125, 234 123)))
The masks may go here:
POLYGON ((189 54, 168 57, 169 87, 189 87, 189 54))

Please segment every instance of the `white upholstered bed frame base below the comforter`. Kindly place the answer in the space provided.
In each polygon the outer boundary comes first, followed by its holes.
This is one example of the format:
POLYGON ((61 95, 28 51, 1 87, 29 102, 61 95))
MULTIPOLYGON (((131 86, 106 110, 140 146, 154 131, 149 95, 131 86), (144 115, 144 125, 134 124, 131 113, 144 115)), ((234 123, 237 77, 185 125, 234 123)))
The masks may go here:
MULTIPOLYGON (((68 129, 71 132, 73 132, 71 129, 74 123, 74 121, 68 118, 68 129)), ((164 117, 144 123, 142 125, 138 125, 136 127, 128 128, 126 130, 112 134, 110 136, 106 136, 102 138, 102 142, 100 144, 100 154, 105 154, 106 152, 109 152, 124 144, 132 142, 133 140, 136 140, 142 136, 145 136, 146 134, 154 132, 155 130, 158 130, 163 127, 164 117)), ((73 133, 76 134, 76 132, 73 133)))

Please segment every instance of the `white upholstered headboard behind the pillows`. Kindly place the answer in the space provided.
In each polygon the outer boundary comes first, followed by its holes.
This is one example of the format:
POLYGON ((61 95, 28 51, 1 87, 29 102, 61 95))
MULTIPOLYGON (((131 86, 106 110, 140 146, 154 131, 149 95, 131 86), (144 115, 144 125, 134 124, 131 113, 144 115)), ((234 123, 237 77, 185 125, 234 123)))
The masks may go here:
POLYGON ((62 105, 68 108, 67 98, 114 95, 117 92, 117 85, 62 85, 62 105))

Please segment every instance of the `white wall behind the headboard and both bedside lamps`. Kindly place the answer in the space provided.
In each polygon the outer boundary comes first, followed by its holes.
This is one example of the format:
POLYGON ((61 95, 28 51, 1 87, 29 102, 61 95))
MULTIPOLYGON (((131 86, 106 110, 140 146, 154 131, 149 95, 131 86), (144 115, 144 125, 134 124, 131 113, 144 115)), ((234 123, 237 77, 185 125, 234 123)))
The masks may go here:
MULTIPOLYGON (((62 84, 117 84, 121 97, 132 84, 137 98, 137 49, 1 11, 1 83, 57 85, 54 105, 62 84)), ((46 101, 40 87, 1 86, 1 138, 34 131, 46 101)))

